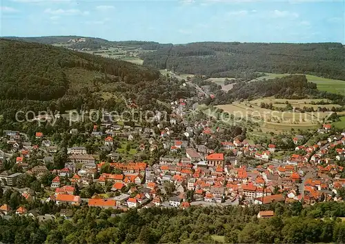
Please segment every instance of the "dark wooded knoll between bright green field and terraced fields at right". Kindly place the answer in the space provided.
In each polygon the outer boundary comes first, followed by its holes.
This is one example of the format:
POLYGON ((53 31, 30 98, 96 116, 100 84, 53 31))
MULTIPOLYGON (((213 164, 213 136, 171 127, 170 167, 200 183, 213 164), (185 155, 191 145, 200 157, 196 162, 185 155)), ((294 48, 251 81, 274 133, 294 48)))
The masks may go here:
MULTIPOLYGON (((259 74, 258 74, 259 75, 259 74)), ((206 105, 228 104, 233 101, 248 99, 258 99, 260 97, 274 96, 276 99, 325 99, 332 104, 345 105, 345 96, 317 90, 317 85, 308 82, 305 75, 294 74, 282 78, 262 79, 260 81, 246 81, 246 79, 236 79, 238 82, 233 85, 233 89, 225 92, 221 86, 211 81, 193 78, 192 81, 198 85, 209 85, 209 90, 215 95, 214 99, 207 97, 203 103, 206 105)), ((287 104, 288 105, 288 104, 287 104)), ((292 106, 287 108, 273 108, 270 104, 262 104, 262 108, 276 110, 292 110, 292 106)), ((321 111, 326 111, 320 104, 321 111)), ((331 110, 340 111, 342 108, 331 108, 331 110)), ((306 112, 308 108, 305 108, 306 112)))

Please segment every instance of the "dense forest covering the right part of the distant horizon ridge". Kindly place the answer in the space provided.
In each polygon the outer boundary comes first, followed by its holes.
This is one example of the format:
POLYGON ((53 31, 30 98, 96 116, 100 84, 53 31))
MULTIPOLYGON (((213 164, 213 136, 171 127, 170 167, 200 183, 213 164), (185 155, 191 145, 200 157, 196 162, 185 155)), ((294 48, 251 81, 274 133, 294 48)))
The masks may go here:
POLYGON ((188 43, 161 46, 141 58, 146 66, 210 77, 235 77, 251 70, 345 80, 341 43, 188 43))

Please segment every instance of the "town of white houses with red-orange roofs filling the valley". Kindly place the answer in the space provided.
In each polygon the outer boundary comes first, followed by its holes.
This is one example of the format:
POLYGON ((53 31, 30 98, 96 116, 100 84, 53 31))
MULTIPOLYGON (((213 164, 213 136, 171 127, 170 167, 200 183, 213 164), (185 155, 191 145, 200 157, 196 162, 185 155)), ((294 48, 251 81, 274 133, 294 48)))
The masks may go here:
MULTIPOLYGON (((213 121, 182 121, 186 128, 183 132, 177 134, 172 130, 174 125, 181 123, 179 118, 187 113, 186 106, 185 99, 172 103, 173 114, 165 124, 160 121, 161 114, 156 114, 160 134, 156 134, 153 128, 113 125, 107 121, 101 125, 105 130, 95 125, 90 136, 102 142, 100 150, 110 151, 107 155, 110 163, 99 161, 97 156, 88 154, 83 146, 68 148, 68 161, 62 170, 53 171, 57 175, 50 185, 53 192, 45 201, 54 201, 58 205, 87 204, 90 207, 122 209, 342 201, 338 193, 345 186, 345 179, 341 177, 344 168, 338 166, 336 161, 344 160, 345 132, 332 135, 315 145, 300 145, 302 138, 297 136, 293 138, 295 152, 282 161, 273 160, 278 150, 274 141, 268 145, 250 145, 235 138, 220 141, 221 148, 216 152, 205 143, 196 143, 194 140, 197 131, 201 136, 217 139, 222 129, 215 126, 213 121), (153 165, 141 160, 140 155, 133 155, 130 161, 120 161, 119 152, 113 150, 115 136, 121 141, 139 141, 137 150, 141 154, 150 155, 159 148, 168 153, 153 165), (329 153, 333 148, 335 156, 329 153), (231 156, 228 156, 228 152, 231 156), (259 165, 242 165, 239 159, 243 156, 256 159, 259 165), (106 164, 109 164, 111 172, 117 173, 101 172, 106 164), (64 185, 65 179, 70 185, 64 185), (82 189, 92 183, 104 188, 110 186, 112 196, 95 194, 90 199, 82 199, 76 188, 82 189)), ((329 133, 330 130, 331 125, 323 125, 319 133, 329 133)), ((70 130, 70 134, 77 133, 77 129, 70 130)), ((19 132, 5 131, 4 136, 12 146, 11 152, 19 154, 16 163, 26 170, 25 174, 40 179, 48 172, 45 164, 53 161, 53 155, 59 149, 43 133, 35 134, 35 138, 41 141, 39 146, 23 140, 19 132), (43 156, 41 165, 29 167, 27 161, 32 154, 43 156)), ((6 160, 6 155, 0 157, 0 163, 3 160, 6 160)), ((3 171, 0 179, 7 185, 15 185, 20 175, 3 171)), ((1 212, 6 212, 6 209, 8 206, 1 206, 1 212)), ((17 212, 25 211, 20 209, 17 212)), ((262 213, 260 216, 269 214, 262 213)))

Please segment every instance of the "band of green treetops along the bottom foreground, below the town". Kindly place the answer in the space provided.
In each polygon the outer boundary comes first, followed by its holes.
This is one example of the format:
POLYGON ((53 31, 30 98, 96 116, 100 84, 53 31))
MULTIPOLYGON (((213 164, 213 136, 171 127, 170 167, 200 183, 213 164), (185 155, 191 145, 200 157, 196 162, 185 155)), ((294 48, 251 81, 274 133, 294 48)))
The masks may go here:
MULTIPOLYGON (((150 208, 141 211, 72 208, 72 219, 39 222, 31 217, 0 218, 3 243, 344 243, 344 203, 301 203, 251 207, 150 208), (259 219, 259 210, 275 217, 259 219)), ((50 212, 57 211, 52 208, 50 212)))

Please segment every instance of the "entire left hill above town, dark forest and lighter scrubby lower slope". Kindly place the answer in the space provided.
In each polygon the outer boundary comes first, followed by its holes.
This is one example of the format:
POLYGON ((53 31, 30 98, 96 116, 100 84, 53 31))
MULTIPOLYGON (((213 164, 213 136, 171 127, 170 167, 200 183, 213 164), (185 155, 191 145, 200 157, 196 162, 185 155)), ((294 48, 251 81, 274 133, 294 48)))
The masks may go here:
POLYGON ((0 114, 11 119, 21 109, 122 111, 124 98, 153 110, 190 92, 159 70, 126 61, 8 39, 0 47, 0 114))

